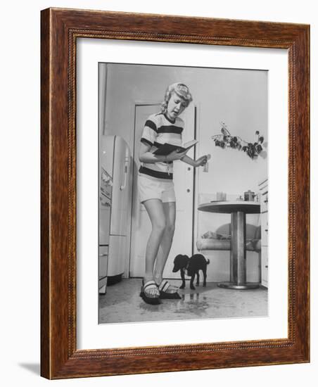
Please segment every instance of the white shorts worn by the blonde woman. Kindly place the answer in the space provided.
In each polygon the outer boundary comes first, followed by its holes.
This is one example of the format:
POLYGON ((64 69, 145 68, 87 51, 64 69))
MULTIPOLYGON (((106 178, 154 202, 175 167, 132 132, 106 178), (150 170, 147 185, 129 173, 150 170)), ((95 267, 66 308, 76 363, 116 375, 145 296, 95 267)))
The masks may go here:
POLYGON ((138 191, 141 203, 148 199, 160 199, 163 203, 176 201, 174 184, 172 180, 163 182, 144 175, 138 175, 138 191))

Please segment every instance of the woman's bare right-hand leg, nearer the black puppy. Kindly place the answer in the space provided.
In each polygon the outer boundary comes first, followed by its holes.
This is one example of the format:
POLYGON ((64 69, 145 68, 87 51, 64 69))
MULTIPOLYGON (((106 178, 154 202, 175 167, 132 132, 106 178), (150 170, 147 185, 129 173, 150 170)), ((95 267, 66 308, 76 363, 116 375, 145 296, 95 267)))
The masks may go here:
MULTIPOLYGON (((163 280, 163 269, 165 269, 165 262, 167 262, 170 253, 172 239, 174 236, 174 224, 176 220, 176 203, 163 203, 163 210, 165 212, 165 232, 161 239, 157 259, 155 260, 154 278, 157 284, 163 280)), ((177 287, 171 287, 170 292, 177 291, 177 287)), ((168 291, 169 292, 169 291, 168 291)))

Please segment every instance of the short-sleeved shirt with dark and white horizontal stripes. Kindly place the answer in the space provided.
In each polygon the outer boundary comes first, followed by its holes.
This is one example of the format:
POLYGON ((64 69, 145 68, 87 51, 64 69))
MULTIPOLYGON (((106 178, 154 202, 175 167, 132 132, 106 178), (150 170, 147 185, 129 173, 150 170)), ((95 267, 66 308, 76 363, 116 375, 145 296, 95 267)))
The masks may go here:
MULTIPOLYGON (((152 114, 146 120, 144 131, 141 135, 141 142, 151 145, 149 150, 153 153, 160 144, 182 145, 182 131, 184 121, 177 117, 174 122, 167 118, 164 113, 152 114)), ((173 178, 173 162, 170 163, 141 163, 139 173, 146 175, 151 179, 164 179, 165 181, 173 178)))

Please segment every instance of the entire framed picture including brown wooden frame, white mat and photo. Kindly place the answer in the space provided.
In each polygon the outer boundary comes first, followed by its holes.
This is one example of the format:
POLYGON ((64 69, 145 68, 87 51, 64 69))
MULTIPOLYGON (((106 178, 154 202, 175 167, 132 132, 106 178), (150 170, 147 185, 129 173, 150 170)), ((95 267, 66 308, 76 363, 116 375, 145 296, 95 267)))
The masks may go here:
POLYGON ((42 11, 42 376, 310 361, 309 34, 42 11))

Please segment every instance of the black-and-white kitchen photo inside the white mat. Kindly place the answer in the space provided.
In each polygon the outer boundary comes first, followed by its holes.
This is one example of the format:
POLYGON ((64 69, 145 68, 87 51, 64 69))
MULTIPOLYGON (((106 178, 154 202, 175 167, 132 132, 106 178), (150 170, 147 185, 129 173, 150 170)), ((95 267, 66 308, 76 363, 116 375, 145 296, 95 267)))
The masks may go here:
POLYGON ((267 71, 98 63, 98 323, 268 315, 267 71))

